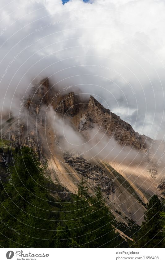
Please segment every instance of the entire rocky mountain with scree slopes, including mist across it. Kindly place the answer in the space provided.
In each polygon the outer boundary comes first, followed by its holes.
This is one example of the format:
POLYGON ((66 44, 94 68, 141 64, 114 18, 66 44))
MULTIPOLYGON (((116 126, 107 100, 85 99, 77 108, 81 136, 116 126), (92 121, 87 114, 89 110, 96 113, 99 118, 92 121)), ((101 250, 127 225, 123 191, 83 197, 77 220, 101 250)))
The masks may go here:
POLYGON ((93 96, 68 87, 55 91, 48 78, 21 102, 21 111, 3 117, 1 126, 11 152, 32 147, 48 164, 46 176, 67 192, 75 193, 80 180, 91 195, 99 185, 118 229, 140 225, 153 194, 164 198, 164 162, 157 164, 164 144, 135 132, 130 120, 121 120, 93 96))

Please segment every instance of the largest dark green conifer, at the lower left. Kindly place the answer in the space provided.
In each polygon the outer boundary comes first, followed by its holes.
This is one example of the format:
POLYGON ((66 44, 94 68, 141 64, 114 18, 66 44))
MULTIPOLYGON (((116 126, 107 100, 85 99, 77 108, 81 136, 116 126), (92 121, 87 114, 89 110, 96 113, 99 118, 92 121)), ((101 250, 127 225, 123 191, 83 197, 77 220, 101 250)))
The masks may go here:
POLYGON ((0 224, 0 244, 3 247, 49 247, 57 218, 51 211, 45 189, 44 169, 37 154, 27 147, 14 159, 15 167, 10 167, 11 175, 4 189, 6 199, 0 206, 1 218, 7 225, 0 224))

